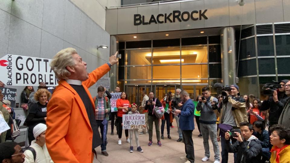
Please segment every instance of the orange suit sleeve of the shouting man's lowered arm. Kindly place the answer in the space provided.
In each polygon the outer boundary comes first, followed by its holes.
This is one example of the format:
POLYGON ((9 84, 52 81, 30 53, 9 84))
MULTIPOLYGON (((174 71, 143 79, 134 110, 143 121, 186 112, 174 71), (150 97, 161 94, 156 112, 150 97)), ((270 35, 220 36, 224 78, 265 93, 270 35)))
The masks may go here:
POLYGON ((47 105, 45 141, 50 157, 56 163, 79 163, 65 140, 72 110, 68 106, 60 96, 52 97, 47 105))

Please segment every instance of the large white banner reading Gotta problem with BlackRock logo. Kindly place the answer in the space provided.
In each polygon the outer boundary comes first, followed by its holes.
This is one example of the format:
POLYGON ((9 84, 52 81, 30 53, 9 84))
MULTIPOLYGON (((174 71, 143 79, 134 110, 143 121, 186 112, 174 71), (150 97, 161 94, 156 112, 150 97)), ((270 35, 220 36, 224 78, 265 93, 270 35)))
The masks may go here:
POLYGON ((58 81, 50 62, 51 59, 7 54, 0 59, 0 80, 13 86, 38 86, 41 82, 56 86, 58 81))

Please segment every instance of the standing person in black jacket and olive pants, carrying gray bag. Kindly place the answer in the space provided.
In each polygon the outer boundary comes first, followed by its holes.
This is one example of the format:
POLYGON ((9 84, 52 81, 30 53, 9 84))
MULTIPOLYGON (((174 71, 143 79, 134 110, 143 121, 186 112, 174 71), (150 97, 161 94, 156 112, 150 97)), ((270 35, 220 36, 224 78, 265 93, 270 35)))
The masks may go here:
POLYGON ((148 145, 152 145, 152 135, 153 135, 153 122, 155 124, 156 129, 156 138, 157 138, 157 144, 158 146, 161 146, 160 142, 160 130, 159 130, 159 119, 155 116, 153 113, 154 107, 162 107, 162 104, 160 103, 158 98, 154 98, 154 93, 152 91, 149 92, 149 100, 146 101, 145 110, 148 110, 148 124, 149 124, 149 143, 148 145))

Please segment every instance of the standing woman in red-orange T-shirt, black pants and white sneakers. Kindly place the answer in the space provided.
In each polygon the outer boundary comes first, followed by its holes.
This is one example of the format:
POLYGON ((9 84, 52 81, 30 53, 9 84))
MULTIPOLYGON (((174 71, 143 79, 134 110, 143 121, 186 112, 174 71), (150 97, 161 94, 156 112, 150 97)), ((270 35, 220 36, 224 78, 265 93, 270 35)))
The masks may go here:
MULTIPOLYGON (((129 108, 131 107, 130 102, 127 100, 127 98, 128 97, 127 97, 126 92, 122 92, 121 97, 117 100, 117 104, 116 104, 116 107, 118 108, 117 116, 118 116, 118 126, 119 126, 119 132, 118 132, 118 136, 119 136, 118 144, 119 145, 122 145, 122 141, 121 141, 122 131, 123 131, 123 128, 122 128, 122 119, 123 118, 122 117, 123 117, 123 114, 126 114, 129 112, 129 108)), ((130 143, 130 140, 128 138, 129 132, 127 129, 125 129, 125 135, 126 135, 126 142, 130 143)))

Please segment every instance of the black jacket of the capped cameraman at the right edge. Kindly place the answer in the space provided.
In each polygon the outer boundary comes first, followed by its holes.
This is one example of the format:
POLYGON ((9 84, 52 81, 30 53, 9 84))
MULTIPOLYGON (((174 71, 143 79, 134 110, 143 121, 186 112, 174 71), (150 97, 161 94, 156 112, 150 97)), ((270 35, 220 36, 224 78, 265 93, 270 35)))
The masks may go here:
POLYGON ((279 100, 278 103, 276 103, 273 100, 273 97, 269 97, 268 101, 265 100, 262 102, 262 105, 260 107, 261 111, 270 109, 269 110, 269 125, 270 126, 278 123, 279 117, 288 99, 289 97, 287 97, 287 95, 284 93, 283 95, 280 96, 280 98, 278 97, 278 100, 279 100))

